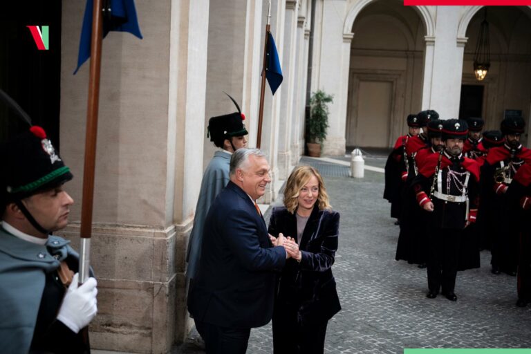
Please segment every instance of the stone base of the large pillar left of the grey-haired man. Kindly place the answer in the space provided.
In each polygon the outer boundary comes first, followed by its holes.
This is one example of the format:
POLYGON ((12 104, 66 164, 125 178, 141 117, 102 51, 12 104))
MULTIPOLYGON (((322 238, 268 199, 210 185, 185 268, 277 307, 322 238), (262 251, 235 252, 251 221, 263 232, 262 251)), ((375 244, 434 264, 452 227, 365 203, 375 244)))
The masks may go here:
MULTIPOLYGON (((98 313, 91 347, 130 353, 169 353, 188 331, 185 250, 192 222, 167 229, 94 225, 91 266, 98 313)), ((57 232, 80 243, 80 225, 57 232)))

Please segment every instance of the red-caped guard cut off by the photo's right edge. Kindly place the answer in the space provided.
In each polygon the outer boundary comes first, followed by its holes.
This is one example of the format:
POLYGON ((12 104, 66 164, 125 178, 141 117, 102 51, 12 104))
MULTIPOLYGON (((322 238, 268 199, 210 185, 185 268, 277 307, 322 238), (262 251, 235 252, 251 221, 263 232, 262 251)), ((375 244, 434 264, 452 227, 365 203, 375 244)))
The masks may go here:
POLYGON ((516 214, 519 231, 518 301, 525 307, 531 302, 531 165, 523 165, 514 175, 507 189, 507 205, 516 214))

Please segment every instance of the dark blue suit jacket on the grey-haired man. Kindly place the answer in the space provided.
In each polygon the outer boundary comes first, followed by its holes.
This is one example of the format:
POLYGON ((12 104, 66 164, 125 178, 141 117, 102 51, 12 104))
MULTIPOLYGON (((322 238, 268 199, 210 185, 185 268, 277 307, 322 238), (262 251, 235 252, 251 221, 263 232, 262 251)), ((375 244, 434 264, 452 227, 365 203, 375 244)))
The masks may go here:
POLYGON ((272 247, 248 194, 229 182, 205 219, 188 310, 196 320, 216 326, 263 326, 272 317, 275 271, 285 263, 286 251, 272 247))

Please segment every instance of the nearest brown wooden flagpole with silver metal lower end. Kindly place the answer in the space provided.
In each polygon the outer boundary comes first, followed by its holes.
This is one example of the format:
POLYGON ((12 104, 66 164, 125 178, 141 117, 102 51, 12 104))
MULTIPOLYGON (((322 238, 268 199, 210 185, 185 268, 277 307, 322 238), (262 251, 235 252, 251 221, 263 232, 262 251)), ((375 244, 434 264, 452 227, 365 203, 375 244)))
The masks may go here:
POLYGON ((94 171, 96 160, 97 111, 100 103, 100 69, 102 62, 103 18, 102 0, 94 0, 91 36, 91 65, 88 79, 86 110, 85 161, 80 227, 80 283, 88 279, 92 235, 94 199, 94 171))

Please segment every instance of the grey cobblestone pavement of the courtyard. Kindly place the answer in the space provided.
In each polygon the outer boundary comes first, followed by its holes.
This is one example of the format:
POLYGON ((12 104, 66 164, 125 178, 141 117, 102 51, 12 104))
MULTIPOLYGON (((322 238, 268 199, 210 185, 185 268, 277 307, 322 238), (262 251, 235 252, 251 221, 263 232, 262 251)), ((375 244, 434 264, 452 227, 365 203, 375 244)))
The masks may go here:
MULTIPOLYGON (((385 159, 373 156, 365 163, 383 167, 385 159)), ((394 259, 399 230, 382 199, 383 174, 365 171, 364 178, 354 179, 337 177, 335 170, 348 167, 318 168, 341 214, 333 272, 343 309, 328 324, 326 353, 531 348, 531 307, 515 306, 516 277, 491 274, 490 254, 482 252, 481 268, 458 273, 458 301, 427 299, 426 270, 394 259)), ((190 342, 196 337, 192 333, 190 342)), ((187 343, 174 353, 203 351, 187 343)), ((251 331, 248 353, 272 353, 270 324, 251 331)))

